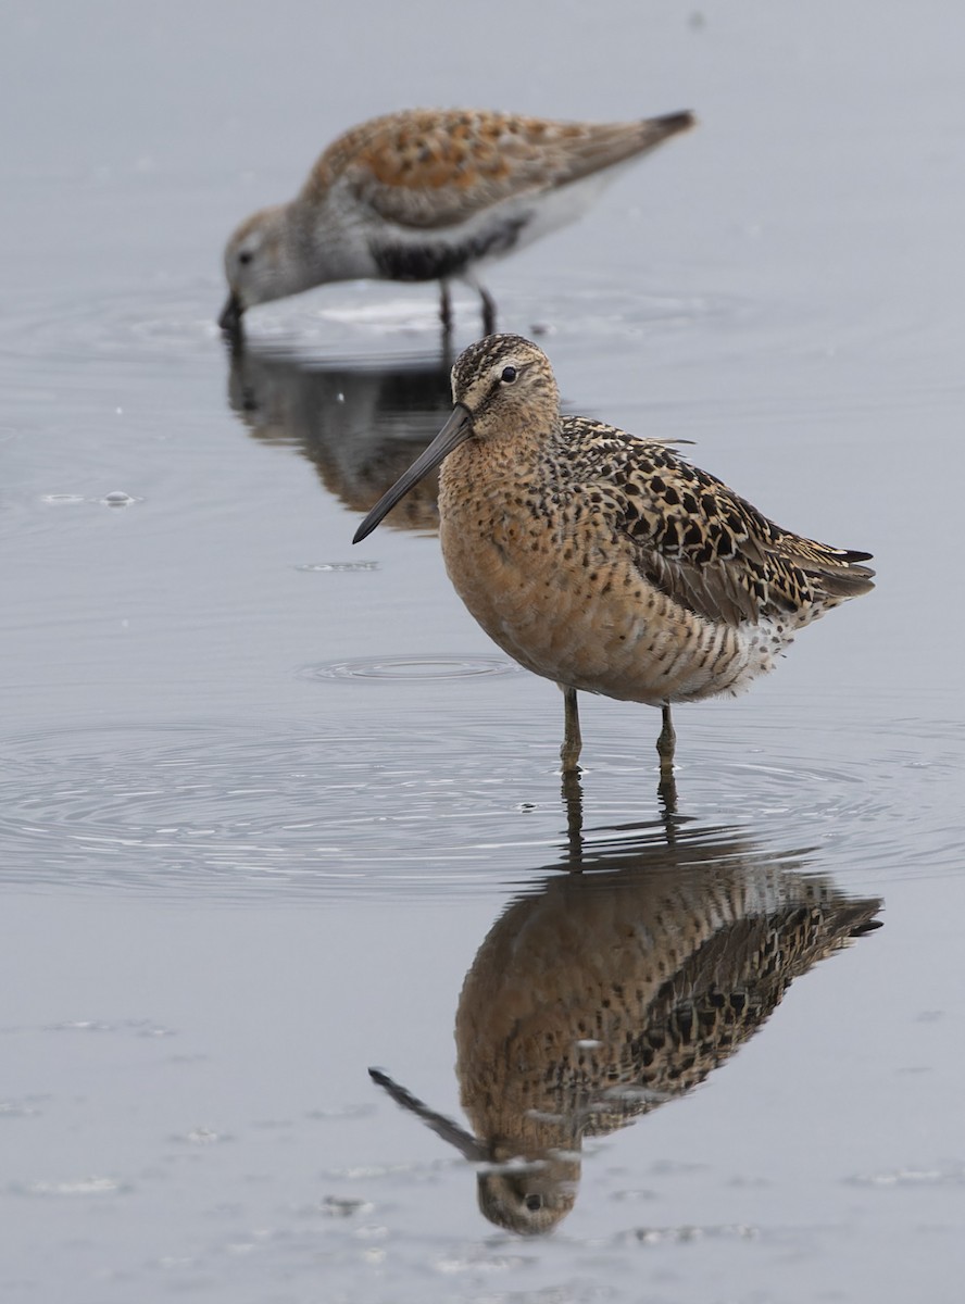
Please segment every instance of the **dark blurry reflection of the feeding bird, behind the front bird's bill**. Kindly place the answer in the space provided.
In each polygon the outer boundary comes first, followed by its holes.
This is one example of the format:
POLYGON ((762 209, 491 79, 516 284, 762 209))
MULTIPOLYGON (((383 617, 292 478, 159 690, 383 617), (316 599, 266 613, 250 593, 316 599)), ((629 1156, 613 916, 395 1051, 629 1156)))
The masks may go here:
MULTIPOLYGON (((295 445, 330 493, 353 511, 368 511, 449 415, 449 366, 308 366, 283 353, 235 349, 228 403, 256 439, 295 445)), ((436 529, 437 493, 436 475, 390 524, 436 529)))

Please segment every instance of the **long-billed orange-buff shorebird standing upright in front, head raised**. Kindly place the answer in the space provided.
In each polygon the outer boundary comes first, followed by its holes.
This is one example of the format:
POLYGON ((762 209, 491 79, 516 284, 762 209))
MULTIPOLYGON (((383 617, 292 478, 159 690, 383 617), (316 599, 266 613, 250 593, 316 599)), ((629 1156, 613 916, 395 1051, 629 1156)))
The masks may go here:
POLYGON ((672 703, 743 691, 797 630, 874 587, 870 553, 782 529, 659 439, 562 416, 549 359, 519 335, 471 344, 453 400, 353 542, 442 464, 446 570, 486 634, 562 689, 565 773, 578 690, 660 707, 672 782, 672 703))

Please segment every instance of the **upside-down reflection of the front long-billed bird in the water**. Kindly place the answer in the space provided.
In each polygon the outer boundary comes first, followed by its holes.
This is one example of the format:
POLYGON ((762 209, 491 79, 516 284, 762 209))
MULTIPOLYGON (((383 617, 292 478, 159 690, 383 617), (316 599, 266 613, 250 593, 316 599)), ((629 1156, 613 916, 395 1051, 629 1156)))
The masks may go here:
POLYGON ((472 1131, 379 1069, 376 1082, 471 1162, 479 1204, 514 1232, 572 1209, 586 1137, 627 1127, 724 1064, 790 983, 876 928, 805 859, 733 831, 639 827, 578 872, 515 897, 466 977, 456 1074, 472 1131))

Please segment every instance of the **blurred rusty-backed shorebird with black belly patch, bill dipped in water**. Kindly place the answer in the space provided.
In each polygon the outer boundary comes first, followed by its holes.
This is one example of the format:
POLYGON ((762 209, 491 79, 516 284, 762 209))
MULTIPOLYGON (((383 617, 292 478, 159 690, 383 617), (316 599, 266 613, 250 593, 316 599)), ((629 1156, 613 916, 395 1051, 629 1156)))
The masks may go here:
POLYGON ((231 293, 219 325, 237 334, 254 304, 330 280, 451 279, 496 305, 477 265, 574 222, 621 166, 694 125, 689 112, 635 123, 559 123, 484 110, 409 110, 353 126, 322 154, 299 194, 262 209, 224 250, 231 293))

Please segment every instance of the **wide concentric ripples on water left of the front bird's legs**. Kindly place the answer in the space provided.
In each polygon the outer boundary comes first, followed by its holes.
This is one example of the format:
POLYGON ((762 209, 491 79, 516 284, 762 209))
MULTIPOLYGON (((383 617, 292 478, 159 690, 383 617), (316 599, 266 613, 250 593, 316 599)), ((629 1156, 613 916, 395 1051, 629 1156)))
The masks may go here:
POLYGON ((527 771, 552 786, 539 759, 519 756, 494 782, 485 754, 464 732, 454 743, 301 725, 21 737, 0 758, 8 879, 230 895, 492 884, 506 868, 497 849, 552 844, 558 818, 527 822, 511 795, 527 771))

